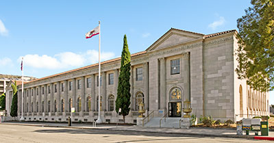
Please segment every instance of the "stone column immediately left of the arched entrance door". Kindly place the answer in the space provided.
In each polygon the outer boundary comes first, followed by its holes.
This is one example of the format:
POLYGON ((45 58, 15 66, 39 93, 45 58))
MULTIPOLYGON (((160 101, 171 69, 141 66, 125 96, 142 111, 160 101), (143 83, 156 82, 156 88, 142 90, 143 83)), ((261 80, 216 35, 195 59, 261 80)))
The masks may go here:
POLYGON ((160 109, 166 110, 166 61, 160 58, 160 109))

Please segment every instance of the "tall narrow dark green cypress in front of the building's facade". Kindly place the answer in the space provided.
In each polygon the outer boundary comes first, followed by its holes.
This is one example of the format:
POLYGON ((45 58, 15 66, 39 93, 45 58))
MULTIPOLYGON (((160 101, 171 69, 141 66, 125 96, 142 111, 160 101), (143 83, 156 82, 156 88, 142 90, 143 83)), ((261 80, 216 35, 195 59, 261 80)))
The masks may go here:
POLYGON ((121 72, 119 74, 117 98, 116 98, 116 112, 119 113, 121 108, 121 114, 125 123, 125 116, 129 114, 130 110, 130 53, 127 46, 127 36, 124 36, 123 51, 121 55, 121 72))

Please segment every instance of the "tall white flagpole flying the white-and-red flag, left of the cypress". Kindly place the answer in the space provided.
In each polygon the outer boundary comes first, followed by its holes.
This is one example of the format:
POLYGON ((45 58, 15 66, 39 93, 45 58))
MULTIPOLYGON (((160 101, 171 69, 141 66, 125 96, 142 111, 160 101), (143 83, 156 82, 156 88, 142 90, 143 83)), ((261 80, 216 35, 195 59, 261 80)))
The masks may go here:
POLYGON ((101 88, 101 62, 100 62, 100 48, 101 48, 101 29, 100 29, 100 21, 99 21, 99 76, 98 76, 98 119, 97 119, 97 123, 101 123, 101 96, 100 96, 100 88, 101 88))

